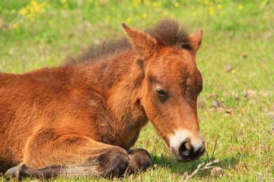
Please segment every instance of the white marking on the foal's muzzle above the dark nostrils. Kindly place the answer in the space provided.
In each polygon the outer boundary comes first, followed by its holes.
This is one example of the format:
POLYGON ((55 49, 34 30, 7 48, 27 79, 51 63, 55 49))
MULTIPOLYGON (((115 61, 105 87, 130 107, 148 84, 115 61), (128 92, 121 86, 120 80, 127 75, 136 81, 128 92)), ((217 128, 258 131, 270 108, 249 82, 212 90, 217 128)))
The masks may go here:
POLYGON ((193 146, 194 152, 198 151, 199 148, 203 145, 203 139, 201 138, 201 133, 198 136, 193 135, 190 131, 185 129, 180 129, 175 131, 175 134, 169 136, 169 144, 171 149, 176 149, 179 151, 179 146, 182 144, 184 140, 188 138, 190 140, 190 144, 193 146))

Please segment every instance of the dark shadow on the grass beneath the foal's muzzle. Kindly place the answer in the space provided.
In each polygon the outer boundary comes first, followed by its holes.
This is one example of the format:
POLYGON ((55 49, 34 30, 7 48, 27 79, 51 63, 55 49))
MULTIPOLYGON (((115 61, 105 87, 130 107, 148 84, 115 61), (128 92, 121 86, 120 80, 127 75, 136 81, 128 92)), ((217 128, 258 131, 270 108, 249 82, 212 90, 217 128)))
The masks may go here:
MULTIPOLYGON (((229 168, 234 168, 239 161, 240 158, 242 158, 243 155, 237 154, 232 157, 226 157, 223 159, 219 159, 219 162, 214 164, 214 166, 218 166, 223 168, 224 170, 229 169, 229 168)), ((197 161, 193 162, 178 162, 172 159, 171 157, 166 157, 166 156, 152 156, 153 163, 156 164, 160 168, 166 168, 166 170, 169 170, 171 173, 177 173, 177 174, 184 174, 184 172, 188 172, 190 174, 193 172, 197 166, 203 162, 205 164, 209 161, 213 161, 214 159, 207 159, 205 157, 198 159, 197 161)), ((210 174, 210 170, 203 170, 202 172, 198 173, 199 177, 202 176, 208 176, 210 174)))

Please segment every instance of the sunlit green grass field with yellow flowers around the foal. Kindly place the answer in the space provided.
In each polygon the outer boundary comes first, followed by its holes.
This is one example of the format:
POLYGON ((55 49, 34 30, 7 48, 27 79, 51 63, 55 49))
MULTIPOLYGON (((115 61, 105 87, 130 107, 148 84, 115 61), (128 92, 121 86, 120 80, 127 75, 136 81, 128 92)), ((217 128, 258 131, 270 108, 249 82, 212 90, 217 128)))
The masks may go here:
POLYGON ((197 54, 204 81, 198 115, 206 154, 189 164, 175 162, 149 124, 134 148, 153 155, 153 168, 115 180, 180 181, 198 164, 219 159, 216 166, 225 170, 223 175, 201 170, 190 180, 274 181, 273 12, 271 0, 1 0, 0 72, 61 65, 89 44, 123 36, 122 22, 145 29, 169 17, 184 23, 190 32, 203 29, 197 54))

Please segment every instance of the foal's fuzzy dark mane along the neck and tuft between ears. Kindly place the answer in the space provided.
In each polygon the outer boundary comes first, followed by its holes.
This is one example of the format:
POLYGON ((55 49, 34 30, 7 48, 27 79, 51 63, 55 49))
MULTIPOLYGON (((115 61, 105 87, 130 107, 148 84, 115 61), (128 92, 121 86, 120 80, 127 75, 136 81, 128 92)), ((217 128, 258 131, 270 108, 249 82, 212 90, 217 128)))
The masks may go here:
MULTIPOLYGON (((151 27, 145 32, 158 40, 158 42, 176 48, 179 45, 187 44, 189 40, 186 29, 180 27, 177 21, 171 19, 164 19, 155 25, 155 27, 151 27)), ((70 58, 68 63, 76 64, 77 62, 92 62, 103 57, 122 53, 128 49, 132 49, 132 45, 129 43, 127 38, 122 38, 121 40, 107 40, 103 42, 101 46, 90 46, 77 57, 70 58)))

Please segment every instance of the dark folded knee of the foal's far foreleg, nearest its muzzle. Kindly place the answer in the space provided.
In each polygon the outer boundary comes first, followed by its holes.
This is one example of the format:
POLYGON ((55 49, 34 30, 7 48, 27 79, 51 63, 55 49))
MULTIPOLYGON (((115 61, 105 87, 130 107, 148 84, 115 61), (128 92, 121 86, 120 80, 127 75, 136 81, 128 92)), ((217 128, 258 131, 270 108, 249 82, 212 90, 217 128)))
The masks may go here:
POLYGON ((151 167, 151 156, 144 149, 127 150, 127 153, 129 153, 129 174, 145 171, 151 167))

